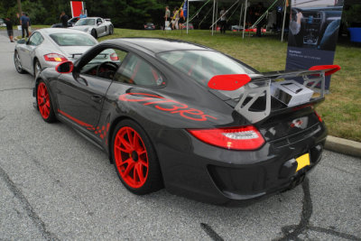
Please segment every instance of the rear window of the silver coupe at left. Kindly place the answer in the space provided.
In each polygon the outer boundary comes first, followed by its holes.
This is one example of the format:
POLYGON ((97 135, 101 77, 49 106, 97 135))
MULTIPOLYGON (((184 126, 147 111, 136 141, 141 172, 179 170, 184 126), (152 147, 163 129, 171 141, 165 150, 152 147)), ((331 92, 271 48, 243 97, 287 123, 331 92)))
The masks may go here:
POLYGON ((52 33, 51 39, 59 46, 93 46, 97 42, 88 34, 83 33, 52 33))

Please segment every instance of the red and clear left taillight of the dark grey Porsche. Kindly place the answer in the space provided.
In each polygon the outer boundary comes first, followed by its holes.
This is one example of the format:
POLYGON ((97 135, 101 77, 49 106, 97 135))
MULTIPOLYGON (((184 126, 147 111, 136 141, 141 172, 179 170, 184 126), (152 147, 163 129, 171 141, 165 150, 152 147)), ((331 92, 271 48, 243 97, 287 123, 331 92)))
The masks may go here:
POLYGON ((188 131, 202 142, 230 150, 255 150, 264 144, 264 137, 253 125, 188 131))

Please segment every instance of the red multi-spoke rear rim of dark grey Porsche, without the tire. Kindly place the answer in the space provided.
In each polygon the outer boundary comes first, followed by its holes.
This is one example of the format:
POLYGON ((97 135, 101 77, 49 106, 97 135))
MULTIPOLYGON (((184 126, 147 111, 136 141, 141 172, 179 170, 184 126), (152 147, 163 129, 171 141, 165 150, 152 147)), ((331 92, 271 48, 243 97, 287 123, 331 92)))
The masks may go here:
POLYGON ((116 133, 114 155, 123 181, 133 189, 142 188, 148 177, 148 153, 141 136, 132 127, 124 126, 116 133))

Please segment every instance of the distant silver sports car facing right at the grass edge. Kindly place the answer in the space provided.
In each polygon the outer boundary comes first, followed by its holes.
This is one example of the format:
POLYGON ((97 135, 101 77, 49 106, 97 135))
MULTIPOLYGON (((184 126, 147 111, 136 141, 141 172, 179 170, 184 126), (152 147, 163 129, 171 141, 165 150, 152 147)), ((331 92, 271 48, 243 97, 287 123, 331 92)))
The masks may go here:
POLYGON ((114 26, 110 19, 103 19, 101 17, 81 18, 70 29, 88 32, 96 39, 107 34, 111 35, 114 32, 114 26))

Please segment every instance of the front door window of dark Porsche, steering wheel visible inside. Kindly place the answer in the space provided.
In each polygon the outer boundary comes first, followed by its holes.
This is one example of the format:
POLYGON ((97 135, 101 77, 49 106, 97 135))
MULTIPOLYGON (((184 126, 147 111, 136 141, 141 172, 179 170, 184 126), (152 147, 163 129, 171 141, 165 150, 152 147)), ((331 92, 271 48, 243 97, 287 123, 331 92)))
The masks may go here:
POLYGON ((105 49, 89 60, 80 69, 80 73, 104 79, 113 79, 126 54, 126 51, 111 48, 105 49))

